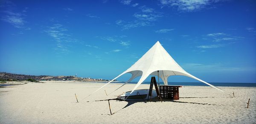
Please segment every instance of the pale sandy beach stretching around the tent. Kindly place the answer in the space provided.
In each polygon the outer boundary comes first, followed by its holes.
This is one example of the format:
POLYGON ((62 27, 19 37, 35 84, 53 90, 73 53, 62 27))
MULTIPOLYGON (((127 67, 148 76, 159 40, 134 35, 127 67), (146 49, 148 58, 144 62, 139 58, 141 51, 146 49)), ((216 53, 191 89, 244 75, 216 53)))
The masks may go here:
MULTIPOLYGON (((214 88, 183 86, 179 100, 164 102, 118 101, 116 95, 132 90, 128 84, 110 84, 92 96, 104 83, 46 82, 0 88, 0 124, 6 123, 256 123, 256 87, 214 88), (79 103, 76 102, 75 93, 79 103), (246 102, 250 98, 249 108, 246 102), (110 115, 108 99, 111 104, 110 115)), ((148 89, 143 84, 138 89, 148 89)))

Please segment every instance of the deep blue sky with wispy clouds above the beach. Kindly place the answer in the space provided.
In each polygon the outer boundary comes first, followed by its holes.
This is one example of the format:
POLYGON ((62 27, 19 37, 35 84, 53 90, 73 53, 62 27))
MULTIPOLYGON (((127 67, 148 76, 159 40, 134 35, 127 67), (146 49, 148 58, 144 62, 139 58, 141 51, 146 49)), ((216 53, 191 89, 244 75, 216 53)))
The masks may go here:
POLYGON ((200 79, 256 82, 255 15, 255 0, 1 0, 0 71, 113 79, 159 40, 200 79))

